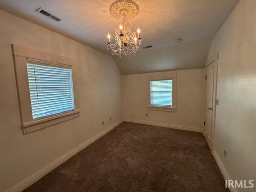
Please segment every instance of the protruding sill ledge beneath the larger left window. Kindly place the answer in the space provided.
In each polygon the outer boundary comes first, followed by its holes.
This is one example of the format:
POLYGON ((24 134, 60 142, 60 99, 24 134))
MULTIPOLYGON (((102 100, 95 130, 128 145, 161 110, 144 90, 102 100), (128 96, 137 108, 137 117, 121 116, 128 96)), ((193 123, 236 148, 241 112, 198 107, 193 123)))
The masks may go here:
POLYGON ((59 114, 56 116, 51 116, 48 118, 43 118, 43 119, 39 119, 39 120, 34 120, 32 122, 26 122, 24 124, 22 124, 23 127, 23 132, 24 134, 48 127, 48 126, 52 126, 54 124, 58 124, 73 118, 77 118, 79 117, 79 111, 80 110, 73 110, 71 112, 67 112, 67 113, 63 113, 63 114, 59 114))

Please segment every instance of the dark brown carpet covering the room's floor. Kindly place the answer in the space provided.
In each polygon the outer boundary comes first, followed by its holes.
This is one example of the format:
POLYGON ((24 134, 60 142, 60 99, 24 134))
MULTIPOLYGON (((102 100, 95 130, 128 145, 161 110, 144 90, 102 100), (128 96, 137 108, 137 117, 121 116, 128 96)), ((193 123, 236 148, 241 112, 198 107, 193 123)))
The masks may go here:
POLYGON ((124 122, 24 192, 228 192, 201 133, 124 122))

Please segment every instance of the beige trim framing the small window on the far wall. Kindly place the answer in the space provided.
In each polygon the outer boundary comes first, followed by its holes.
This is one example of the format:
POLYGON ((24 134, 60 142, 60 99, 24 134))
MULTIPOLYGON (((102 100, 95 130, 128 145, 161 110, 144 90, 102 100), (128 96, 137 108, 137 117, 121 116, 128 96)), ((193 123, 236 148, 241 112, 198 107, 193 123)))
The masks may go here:
POLYGON ((158 77, 158 78, 148 78, 148 110, 155 111, 166 111, 166 112, 176 112, 176 73, 171 73, 168 77, 158 77), (151 91, 150 91, 150 82, 158 80, 172 80, 172 106, 154 106, 151 105, 151 91))

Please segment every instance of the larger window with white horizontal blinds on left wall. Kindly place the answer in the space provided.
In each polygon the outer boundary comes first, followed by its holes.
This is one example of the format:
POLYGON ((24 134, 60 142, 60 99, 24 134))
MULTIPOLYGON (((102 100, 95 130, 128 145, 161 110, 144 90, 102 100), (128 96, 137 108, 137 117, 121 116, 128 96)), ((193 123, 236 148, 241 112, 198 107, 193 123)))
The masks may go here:
POLYGON ((33 119, 74 110, 72 69, 27 63, 33 119))

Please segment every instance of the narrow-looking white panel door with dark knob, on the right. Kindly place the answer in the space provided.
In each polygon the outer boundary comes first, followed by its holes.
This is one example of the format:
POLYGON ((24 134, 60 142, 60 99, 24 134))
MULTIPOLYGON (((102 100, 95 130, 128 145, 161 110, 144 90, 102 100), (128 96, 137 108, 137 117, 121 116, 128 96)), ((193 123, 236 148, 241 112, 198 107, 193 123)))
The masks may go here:
POLYGON ((206 105, 205 105, 205 134, 210 149, 212 149, 212 111, 214 93, 214 63, 206 67, 206 105))

